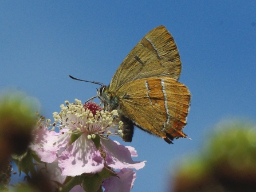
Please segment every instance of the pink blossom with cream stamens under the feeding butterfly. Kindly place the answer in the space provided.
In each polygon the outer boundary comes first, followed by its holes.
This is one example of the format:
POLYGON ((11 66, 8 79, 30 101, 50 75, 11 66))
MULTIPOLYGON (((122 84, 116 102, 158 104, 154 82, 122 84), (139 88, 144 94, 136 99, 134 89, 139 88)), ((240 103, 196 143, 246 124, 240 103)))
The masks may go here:
POLYGON ((94 103, 82 105, 78 99, 75 101, 65 101, 60 113, 53 113, 52 125, 46 120, 34 131, 36 139, 31 149, 41 161, 57 161, 62 175, 72 177, 100 173, 106 165, 120 170, 145 166, 145 161, 132 160, 136 156, 133 147, 124 147, 109 138, 122 135, 123 122, 118 120, 117 110, 104 111, 94 103), (58 133, 54 131, 56 127, 60 129, 58 133))

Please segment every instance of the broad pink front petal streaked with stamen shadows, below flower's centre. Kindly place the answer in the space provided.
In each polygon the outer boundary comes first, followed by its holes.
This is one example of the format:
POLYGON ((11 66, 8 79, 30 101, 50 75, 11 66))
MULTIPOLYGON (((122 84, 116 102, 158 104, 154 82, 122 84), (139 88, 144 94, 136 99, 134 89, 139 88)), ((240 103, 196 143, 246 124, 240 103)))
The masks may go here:
POLYGON ((99 173, 104 167, 104 159, 96 149, 92 139, 82 134, 59 157, 58 165, 62 175, 76 176, 83 173, 99 173))

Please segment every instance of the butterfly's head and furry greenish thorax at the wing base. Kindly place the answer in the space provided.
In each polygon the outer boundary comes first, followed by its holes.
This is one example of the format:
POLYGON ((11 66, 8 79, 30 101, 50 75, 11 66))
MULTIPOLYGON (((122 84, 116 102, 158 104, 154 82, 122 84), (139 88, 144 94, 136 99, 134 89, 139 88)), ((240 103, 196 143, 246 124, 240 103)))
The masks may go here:
POLYGON ((119 97, 113 91, 109 91, 109 86, 101 86, 97 95, 106 110, 112 111, 119 106, 119 97))

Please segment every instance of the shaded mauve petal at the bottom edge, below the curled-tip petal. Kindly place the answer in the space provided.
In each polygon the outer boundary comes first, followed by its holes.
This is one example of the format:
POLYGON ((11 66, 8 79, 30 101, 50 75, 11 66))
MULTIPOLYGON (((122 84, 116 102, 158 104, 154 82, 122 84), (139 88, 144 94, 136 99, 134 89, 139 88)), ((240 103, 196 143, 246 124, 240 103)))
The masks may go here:
POLYGON ((116 172, 118 177, 105 179, 103 187, 105 192, 129 192, 132 190, 136 173, 131 169, 122 169, 116 172))

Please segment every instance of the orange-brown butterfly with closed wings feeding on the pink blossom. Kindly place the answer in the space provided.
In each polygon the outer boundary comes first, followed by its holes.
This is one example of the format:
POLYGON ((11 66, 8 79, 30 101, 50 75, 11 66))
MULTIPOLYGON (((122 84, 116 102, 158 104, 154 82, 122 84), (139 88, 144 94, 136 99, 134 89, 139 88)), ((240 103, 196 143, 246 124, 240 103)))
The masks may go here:
POLYGON ((174 38, 166 27, 147 33, 125 57, 109 86, 97 97, 105 109, 116 109, 123 121, 123 140, 131 142, 134 126, 167 143, 183 133, 191 94, 178 81, 182 65, 174 38))

